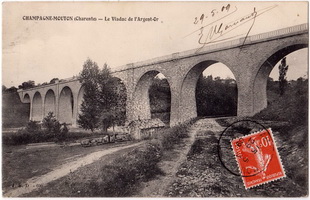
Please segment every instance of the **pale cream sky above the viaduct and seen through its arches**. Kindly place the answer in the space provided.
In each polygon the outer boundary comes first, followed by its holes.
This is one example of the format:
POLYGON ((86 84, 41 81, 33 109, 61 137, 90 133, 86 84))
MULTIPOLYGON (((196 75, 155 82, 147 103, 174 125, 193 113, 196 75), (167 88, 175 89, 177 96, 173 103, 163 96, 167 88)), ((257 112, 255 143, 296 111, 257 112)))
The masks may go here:
MULTIPOLYGON (((127 63, 199 48, 197 30, 202 25, 215 20, 236 20, 254 9, 268 11, 258 16, 255 23, 250 20, 221 39, 245 36, 252 24, 249 35, 308 22, 307 2, 229 4, 228 7, 227 2, 5 2, 3 84, 17 87, 28 80, 43 83, 52 78, 69 78, 79 74, 87 58, 99 66, 107 63, 116 70, 127 63), (29 16, 93 17, 97 21, 25 20, 29 16), (112 21, 112 17, 127 21, 112 21), (138 17, 150 17, 152 21, 138 21, 138 17)), ((307 74, 307 50, 292 53, 287 62, 291 69, 289 80, 307 74)), ((207 69, 213 71, 214 77, 214 73, 232 77, 221 64, 215 66, 207 69)), ((277 73, 272 72, 271 76, 277 77, 277 73)))

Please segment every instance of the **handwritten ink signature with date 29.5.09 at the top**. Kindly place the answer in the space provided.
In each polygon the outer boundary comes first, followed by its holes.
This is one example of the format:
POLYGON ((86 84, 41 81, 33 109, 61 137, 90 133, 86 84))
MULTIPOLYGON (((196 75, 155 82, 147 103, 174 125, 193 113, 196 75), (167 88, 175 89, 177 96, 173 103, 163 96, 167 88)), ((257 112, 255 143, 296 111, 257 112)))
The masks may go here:
POLYGON ((232 7, 230 4, 227 4, 226 6, 223 6, 221 9, 213 9, 210 13, 202 14, 200 18, 195 17, 194 24, 201 26, 199 29, 196 29, 189 35, 198 32, 198 43, 202 46, 197 51, 200 51, 207 44, 226 41, 243 35, 244 33, 222 39, 222 37, 227 33, 235 30, 236 28, 248 22, 251 22, 251 26, 247 30, 246 36, 242 44, 244 45, 252 27, 255 24, 256 18, 275 7, 277 7, 277 5, 269 6, 260 10, 256 10, 256 8, 254 7, 250 13, 242 17, 239 17, 229 22, 223 22, 222 20, 228 19, 229 17, 232 16, 233 13, 237 12, 238 10, 236 6, 232 7), (208 19, 211 19, 211 21, 205 24, 208 19))

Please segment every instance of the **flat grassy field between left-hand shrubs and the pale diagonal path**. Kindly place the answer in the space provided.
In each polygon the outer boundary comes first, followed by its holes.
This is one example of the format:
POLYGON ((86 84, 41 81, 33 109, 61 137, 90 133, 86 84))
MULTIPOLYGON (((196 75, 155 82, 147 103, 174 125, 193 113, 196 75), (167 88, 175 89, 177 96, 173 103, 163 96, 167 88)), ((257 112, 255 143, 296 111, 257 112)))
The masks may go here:
POLYGON ((84 148, 78 146, 56 146, 26 149, 26 145, 3 146, 2 187, 4 190, 19 187, 27 179, 48 173, 56 166, 74 158, 116 146, 132 144, 132 141, 109 143, 84 148))

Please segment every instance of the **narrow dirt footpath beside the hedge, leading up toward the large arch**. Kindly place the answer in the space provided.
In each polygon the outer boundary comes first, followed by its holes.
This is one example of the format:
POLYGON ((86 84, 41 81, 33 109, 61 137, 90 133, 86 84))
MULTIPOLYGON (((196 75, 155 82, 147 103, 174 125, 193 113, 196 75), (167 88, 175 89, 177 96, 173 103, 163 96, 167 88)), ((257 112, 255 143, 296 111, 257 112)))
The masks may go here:
POLYGON ((175 179, 176 172, 178 171, 180 165, 186 160, 186 156, 191 149, 195 137, 201 130, 213 130, 221 131, 221 127, 214 119, 201 119, 190 127, 189 138, 183 140, 183 142, 176 146, 171 159, 163 159, 159 163, 159 167, 164 172, 164 176, 159 176, 155 180, 148 181, 143 184, 143 189, 139 194, 135 196, 139 197, 163 197, 166 193, 167 188, 173 180, 175 179))

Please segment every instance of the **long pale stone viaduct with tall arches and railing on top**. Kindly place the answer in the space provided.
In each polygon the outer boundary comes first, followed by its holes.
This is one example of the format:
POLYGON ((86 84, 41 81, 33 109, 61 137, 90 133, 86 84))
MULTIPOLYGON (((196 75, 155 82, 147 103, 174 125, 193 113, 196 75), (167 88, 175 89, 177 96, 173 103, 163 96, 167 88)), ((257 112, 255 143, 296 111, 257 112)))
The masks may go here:
MULTIPOLYGON (((170 85, 170 125, 197 116, 195 88, 199 75, 221 62, 234 74, 238 88, 238 116, 252 116, 267 107, 266 84, 275 64, 289 53, 308 47, 308 24, 207 45, 114 71, 127 91, 127 121, 151 118, 148 89, 162 73, 170 85)), ((308 59, 308 58, 305 58, 308 59)), ((40 121, 52 111, 60 122, 77 126, 83 87, 77 78, 27 90, 18 90, 23 103, 30 103, 30 119, 40 121)))

